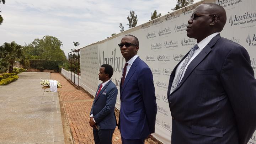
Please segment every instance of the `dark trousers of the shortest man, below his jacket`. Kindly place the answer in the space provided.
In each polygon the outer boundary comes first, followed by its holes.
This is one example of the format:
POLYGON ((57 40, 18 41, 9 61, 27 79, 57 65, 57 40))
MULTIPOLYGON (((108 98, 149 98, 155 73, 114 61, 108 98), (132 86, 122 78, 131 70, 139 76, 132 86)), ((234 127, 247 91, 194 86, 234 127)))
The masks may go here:
POLYGON ((93 128, 95 144, 112 144, 114 129, 100 129, 93 128))

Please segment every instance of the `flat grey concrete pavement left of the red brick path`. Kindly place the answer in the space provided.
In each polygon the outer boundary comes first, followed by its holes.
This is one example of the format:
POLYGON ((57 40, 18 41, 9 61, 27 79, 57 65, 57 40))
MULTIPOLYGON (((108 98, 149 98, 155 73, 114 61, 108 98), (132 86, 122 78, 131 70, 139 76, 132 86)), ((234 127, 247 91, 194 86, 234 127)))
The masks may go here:
MULTIPOLYGON (((41 105, 40 78, 50 73, 23 72, 18 80, 0 86, 0 144, 64 144, 62 120, 56 105, 41 105)), ((57 100, 46 92, 43 102, 57 100)), ((59 103, 57 103, 59 106, 59 103)))

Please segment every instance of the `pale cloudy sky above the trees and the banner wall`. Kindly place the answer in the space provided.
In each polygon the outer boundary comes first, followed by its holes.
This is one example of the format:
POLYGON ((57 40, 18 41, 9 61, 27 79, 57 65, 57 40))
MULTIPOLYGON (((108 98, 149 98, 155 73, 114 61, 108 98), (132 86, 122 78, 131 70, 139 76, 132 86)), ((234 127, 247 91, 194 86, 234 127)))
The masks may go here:
MULTIPOLYGON (((197 2, 200 0, 194 0, 197 2)), ((148 22, 157 10, 171 12, 176 0, 6 0, 0 4, 0 45, 15 41, 22 46, 46 35, 62 41, 65 55, 119 33, 119 23, 128 30, 130 10, 138 15, 138 25, 148 22)))

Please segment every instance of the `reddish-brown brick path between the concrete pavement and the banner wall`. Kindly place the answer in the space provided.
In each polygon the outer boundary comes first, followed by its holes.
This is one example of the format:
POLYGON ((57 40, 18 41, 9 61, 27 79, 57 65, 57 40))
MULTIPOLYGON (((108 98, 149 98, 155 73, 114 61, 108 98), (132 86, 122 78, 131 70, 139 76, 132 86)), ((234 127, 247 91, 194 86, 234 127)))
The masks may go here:
MULTIPOLYGON (((58 91, 64 103, 74 144, 94 144, 92 128, 89 125, 92 98, 85 92, 76 89, 59 73, 51 73, 50 76, 51 79, 62 84, 63 88, 58 91)), ((112 143, 122 143, 117 128, 113 134, 112 143)))

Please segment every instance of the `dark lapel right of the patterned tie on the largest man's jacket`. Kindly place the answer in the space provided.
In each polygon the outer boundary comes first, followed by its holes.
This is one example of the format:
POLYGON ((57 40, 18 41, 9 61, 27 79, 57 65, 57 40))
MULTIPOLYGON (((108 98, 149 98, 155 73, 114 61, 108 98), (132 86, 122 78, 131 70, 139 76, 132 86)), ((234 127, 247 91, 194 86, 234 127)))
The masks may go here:
POLYGON ((192 62, 188 65, 185 74, 180 82, 180 84, 176 87, 176 89, 172 92, 174 93, 176 90, 178 90, 181 85, 186 81, 188 76, 192 73, 192 71, 196 68, 196 66, 202 62, 202 60, 210 53, 212 50, 212 47, 217 42, 217 40, 220 38, 220 34, 217 34, 213 39, 206 45, 206 47, 203 48, 203 50, 192 60, 192 62))

